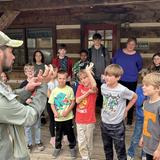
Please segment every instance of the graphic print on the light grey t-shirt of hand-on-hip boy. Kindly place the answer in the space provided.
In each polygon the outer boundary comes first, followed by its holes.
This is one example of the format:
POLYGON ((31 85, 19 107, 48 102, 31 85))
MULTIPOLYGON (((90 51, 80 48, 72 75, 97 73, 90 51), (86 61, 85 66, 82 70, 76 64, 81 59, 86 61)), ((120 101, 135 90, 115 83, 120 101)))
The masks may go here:
POLYGON ((116 112, 117 107, 118 107, 118 99, 119 98, 120 98, 119 95, 112 96, 111 94, 105 94, 104 101, 103 101, 103 106, 104 106, 104 110, 108 114, 116 112))

